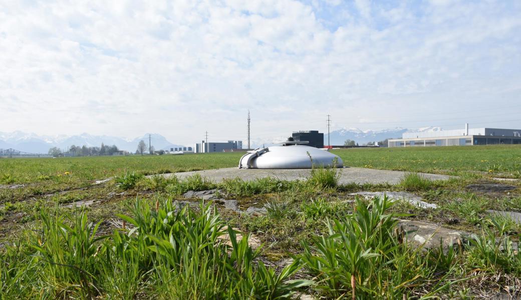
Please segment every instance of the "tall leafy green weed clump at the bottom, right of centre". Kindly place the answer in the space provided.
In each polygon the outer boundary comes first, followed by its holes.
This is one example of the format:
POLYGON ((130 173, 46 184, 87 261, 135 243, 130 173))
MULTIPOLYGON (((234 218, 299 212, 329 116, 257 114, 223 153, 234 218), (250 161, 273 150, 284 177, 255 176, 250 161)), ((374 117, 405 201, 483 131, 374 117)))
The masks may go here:
MULTIPOLYGON (((303 244, 299 257, 318 280, 321 293, 331 298, 396 299, 410 292, 408 286, 434 276, 436 266, 429 267, 419 249, 395 234, 397 220, 387 214, 390 206, 387 197, 375 197, 367 206, 356 199, 352 215, 328 222, 328 236, 303 244)), ((447 287, 440 283, 431 293, 447 287)))

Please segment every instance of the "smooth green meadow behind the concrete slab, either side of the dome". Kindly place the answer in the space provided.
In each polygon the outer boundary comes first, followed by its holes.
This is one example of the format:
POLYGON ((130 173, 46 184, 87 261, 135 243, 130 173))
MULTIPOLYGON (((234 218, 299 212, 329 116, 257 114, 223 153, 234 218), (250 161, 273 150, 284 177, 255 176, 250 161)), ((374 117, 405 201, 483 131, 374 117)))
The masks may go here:
MULTIPOLYGON (((521 146, 359 148, 334 150, 345 166, 458 175, 485 172, 521 177, 521 146)), ((127 172, 158 174, 234 167, 242 153, 0 159, 0 184, 49 179, 81 184, 127 172), (67 173, 67 174, 65 174, 67 173), (65 176, 65 175, 67 176, 65 176), (63 177, 64 178, 59 178, 63 177)))

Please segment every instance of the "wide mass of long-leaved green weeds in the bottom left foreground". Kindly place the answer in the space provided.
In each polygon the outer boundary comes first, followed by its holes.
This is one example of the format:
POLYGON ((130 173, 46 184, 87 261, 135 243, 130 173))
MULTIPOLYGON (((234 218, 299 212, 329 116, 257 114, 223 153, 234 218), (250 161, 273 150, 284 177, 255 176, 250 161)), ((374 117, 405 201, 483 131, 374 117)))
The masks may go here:
POLYGON ((0 298, 289 299, 313 283, 291 279, 300 259, 281 272, 257 262, 249 236, 238 240, 210 204, 129 209, 111 236, 84 211, 42 212, 41 227, 2 253, 0 298))

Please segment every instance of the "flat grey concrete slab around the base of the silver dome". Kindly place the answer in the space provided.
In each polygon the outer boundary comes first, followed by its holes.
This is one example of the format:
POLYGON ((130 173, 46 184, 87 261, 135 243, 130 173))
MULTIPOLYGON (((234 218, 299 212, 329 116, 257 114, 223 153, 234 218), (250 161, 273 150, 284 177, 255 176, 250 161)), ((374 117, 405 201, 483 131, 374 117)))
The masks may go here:
MULTIPOLYGON (((398 184, 406 172, 376 170, 367 168, 344 167, 339 169, 342 172, 339 184, 398 184)), ((242 178, 243 180, 254 180, 257 178, 274 177, 281 180, 306 180, 311 173, 311 169, 239 169, 221 168, 203 171, 183 172, 174 174, 164 174, 164 176, 176 175, 179 178, 185 178, 194 174, 201 174, 214 182, 221 182, 223 179, 242 178)), ((438 174, 423 174, 425 178, 430 180, 447 180, 451 176, 438 174)))

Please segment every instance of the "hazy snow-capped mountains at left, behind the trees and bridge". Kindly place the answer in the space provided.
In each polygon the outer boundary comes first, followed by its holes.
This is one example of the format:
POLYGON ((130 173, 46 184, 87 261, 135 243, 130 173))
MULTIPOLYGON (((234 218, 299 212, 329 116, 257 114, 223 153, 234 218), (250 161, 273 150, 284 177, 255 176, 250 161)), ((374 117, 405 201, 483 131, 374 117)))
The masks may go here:
MULTIPOLYGON (((151 136, 152 146, 154 146, 156 150, 170 150, 170 148, 183 147, 182 145, 173 144, 160 134, 151 134, 151 136)), ((138 143, 140 140, 144 140, 148 145, 148 134, 134 139, 125 139, 106 135, 96 136, 87 133, 73 136, 39 136, 34 133, 24 133, 20 131, 12 133, 0 132, 0 149, 13 148, 23 152, 47 153, 49 148, 52 147, 58 147, 60 149, 67 149, 72 145, 100 147, 103 143, 104 145, 109 146, 116 145, 120 150, 135 152, 135 150, 138 148, 138 143)))

